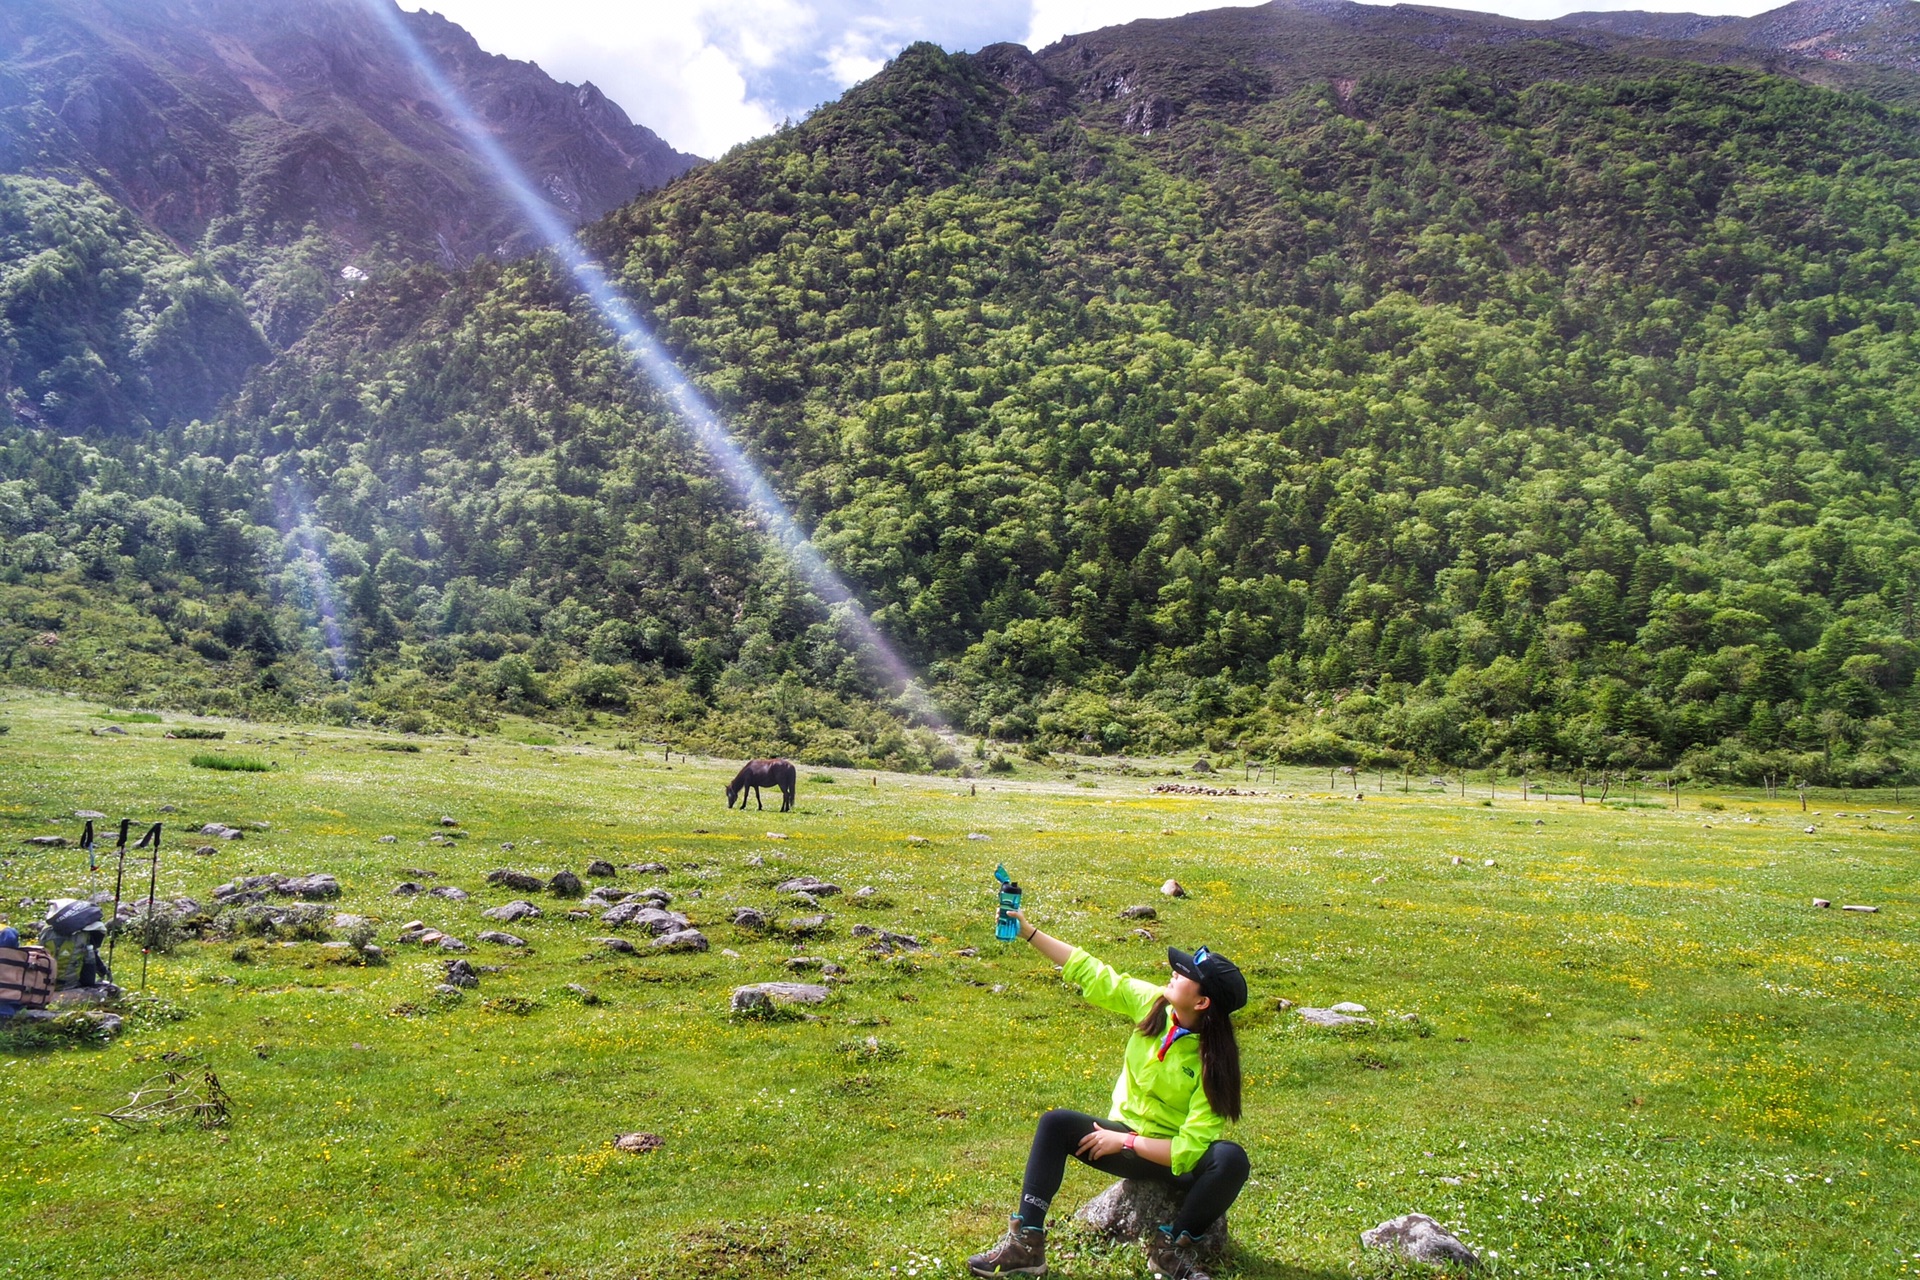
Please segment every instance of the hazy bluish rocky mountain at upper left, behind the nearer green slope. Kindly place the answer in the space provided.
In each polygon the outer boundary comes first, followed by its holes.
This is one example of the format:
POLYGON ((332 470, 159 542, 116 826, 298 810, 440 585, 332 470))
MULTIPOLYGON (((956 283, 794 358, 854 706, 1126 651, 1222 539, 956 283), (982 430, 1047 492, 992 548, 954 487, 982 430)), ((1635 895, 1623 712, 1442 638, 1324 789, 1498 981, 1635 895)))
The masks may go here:
MULTIPOLYGON (((438 13, 399 21, 572 225, 697 163, 591 84, 486 54, 438 13)), ((17 338, 0 413, 63 430, 209 416, 357 280, 532 244, 484 157, 359 0, 0 6, 0 175, 17 175, 4 178, 15 238, 0 273, 29 276, 0 282, 17 338), (134 280, 117 263, 102 282, 102 249, 71 211, 115 205, 131 226, 119 240, 192 267, 134 280), (165 305, 190 296, 175 319, 202 351, 192 386, 177 388, 138 338, 90 342, 146 324, 123 296, 159 294, 165 305), (236 309, 257 334, 234 340, 236 309)))

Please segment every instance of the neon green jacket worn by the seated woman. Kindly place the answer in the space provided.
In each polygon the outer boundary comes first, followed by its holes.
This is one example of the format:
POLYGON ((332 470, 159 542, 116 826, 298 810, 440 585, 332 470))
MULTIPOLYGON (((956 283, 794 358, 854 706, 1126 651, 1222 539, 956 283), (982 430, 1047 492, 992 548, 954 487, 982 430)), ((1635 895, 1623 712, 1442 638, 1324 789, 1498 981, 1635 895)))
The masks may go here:
MULTIPOLYGON (((1146 1017, 1162 988, 1127 977, 1075 946, 1060 971, 1068 983, 1081 988, 1087 1004, 1112 1013, 1125 1013, 1137 1023, 1146 1017)), ((1160 1040, 1133 1032, 1127 1036, 1127 1057, 1114 1082, 1110 1121, 1127 1125, 1142 1138, 1173 1138, 1173 1173, 1187 1173, 1225 1130, 1227 1121, 1208 1105, 1200 1088, 1200 1036, 1181 1036, 1160 1059, 1160 1040)))

